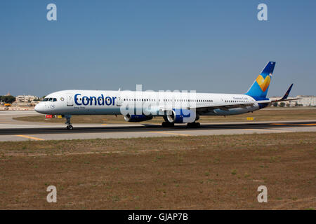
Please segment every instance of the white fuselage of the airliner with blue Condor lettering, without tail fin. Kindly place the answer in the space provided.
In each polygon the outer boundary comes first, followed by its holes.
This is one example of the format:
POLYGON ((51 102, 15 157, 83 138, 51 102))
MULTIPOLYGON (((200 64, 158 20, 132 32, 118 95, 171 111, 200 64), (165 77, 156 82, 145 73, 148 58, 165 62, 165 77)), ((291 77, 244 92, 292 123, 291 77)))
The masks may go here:
MULTIPOLYGON (((145 111, 153 116, 163 116, 162 109, 180 106, 208 107, 232 104, 252 104, 232 109, 211 109, 200 115, 229 116, 248 113, 259 109, 258 102, 246 94, 214 94, 187 92, 137 92, 103 90, 64 90, 53 92, 37 104, 39 113, 52 115, 119 115, 122 106, 135 112, 145 111)), ((137 114, 137 113, 136 113, 137 114)))

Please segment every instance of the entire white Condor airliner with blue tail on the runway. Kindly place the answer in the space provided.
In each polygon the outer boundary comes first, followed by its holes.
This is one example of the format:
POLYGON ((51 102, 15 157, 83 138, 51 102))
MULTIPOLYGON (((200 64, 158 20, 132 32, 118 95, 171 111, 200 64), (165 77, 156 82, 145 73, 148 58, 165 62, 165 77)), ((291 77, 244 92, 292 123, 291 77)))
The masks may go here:
MULTIPOLYGON (((162 116, 163 127, 187 123, 199 127, 200 116, 231 116, 254 112, 274 102, 288 99, 293 84, 284 97, 267 98, 275 62, 268 62, 249 90, 244 94, 197 92, 154 92, 107 90, 63 90, 48 94, 34 110, 38 113, 59 115, 66 118, 68 130, 73 126, 73 115, 123 115, 127 122, 142 122, 162 116)), ((296 98, 298 99, 298 98, 296 98)))

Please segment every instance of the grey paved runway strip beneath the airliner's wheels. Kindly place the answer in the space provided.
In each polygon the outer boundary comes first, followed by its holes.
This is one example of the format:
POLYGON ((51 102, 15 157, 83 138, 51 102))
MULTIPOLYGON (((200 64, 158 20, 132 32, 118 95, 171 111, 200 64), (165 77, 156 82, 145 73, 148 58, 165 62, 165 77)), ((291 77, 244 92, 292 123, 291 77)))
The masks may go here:
POLYGON ((176 124, 175 127, 162 127, 159 124, 150 123, 74 124, 74 130, 66 130, 65 124, 29 123, 12 119, 16 116, 31 115, 38 115, 38 113, 34 111, 0 111, 0 141, 316 132, 316 120, 201 123, 200 128, 187 128, 183 124, 176 124))

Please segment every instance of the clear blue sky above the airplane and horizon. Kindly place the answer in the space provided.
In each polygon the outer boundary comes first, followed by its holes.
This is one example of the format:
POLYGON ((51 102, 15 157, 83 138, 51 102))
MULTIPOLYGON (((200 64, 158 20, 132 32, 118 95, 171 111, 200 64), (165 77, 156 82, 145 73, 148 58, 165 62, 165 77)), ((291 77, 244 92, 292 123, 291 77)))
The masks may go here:
POLYGON ((244 93, 268 61, 277 62, 268 97, 291 83, 291 96, 316 95, 315 10, 315 0, 0 1, 0 95, 136 84, 244 93))

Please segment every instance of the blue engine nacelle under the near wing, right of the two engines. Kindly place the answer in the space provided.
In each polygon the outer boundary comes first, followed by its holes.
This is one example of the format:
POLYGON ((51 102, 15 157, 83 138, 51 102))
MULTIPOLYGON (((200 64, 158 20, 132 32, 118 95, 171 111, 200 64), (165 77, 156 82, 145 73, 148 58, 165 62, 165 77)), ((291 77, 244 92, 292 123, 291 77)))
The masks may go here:
POLYGON ((193 110, 173 109, 172 111, 166 111, 166 113, 169 123, 192 123, 199 120, 199 115, 193 110))

